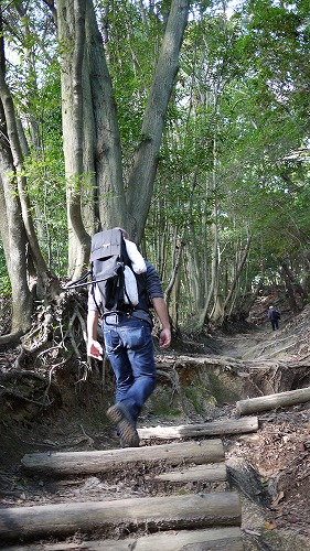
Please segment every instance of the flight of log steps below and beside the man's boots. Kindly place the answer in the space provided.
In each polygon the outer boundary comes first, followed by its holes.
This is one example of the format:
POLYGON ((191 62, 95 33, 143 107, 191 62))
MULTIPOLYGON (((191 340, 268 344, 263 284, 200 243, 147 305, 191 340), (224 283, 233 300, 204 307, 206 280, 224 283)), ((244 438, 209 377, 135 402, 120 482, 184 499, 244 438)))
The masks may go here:
POLYGON ((140 429, 141 443, 148 441, 149 445, 138 449, 24 455, 21 463, 26 473, 56 479, 97 475, 114 480, 114 474, 116 477, 117 473, 131 469, 135 476, 138 473, 143 477, 147 497, 119 499, 116 493, 108 500, 65 500, 2 509, 0 548, 243 550, 240 501, 227 482, 223 442, 218 437, 204 437, 212 432, 213 435, 254 432, 258 421, 244 418, 216 422, 213 428, 212 424, 140 429), (180 437, 184 441, 167 443, 180 437), (152 439, 163 439, 165 443, 154 445, 152 439))

